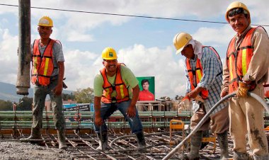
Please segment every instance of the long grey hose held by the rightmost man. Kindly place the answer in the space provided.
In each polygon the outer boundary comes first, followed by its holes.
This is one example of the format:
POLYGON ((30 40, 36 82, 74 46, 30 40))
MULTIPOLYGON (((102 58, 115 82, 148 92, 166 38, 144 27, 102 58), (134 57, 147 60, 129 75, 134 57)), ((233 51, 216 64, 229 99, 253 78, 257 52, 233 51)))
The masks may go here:
MULTIPOLYGON (((204 122, 207 120, 207 118, 210 118, 210 115, 211 113, 217 108, 217 106, 222 103, 223 101, 227 100, 228 98, 231 98, 232 96, 235 96, 236 95, 236 92, 234 93, 230 93, 228 94, 227 96, 224 96, 224 98, 222 98, 221 100, 219 100, 209 111, 208 113, 205 115, 205 117, 202 118, 202 120, 198 123, 198 125, 195 127, 195 129, 193 129, 192 132, 190 132, 190 135, 188 135, 187 137, 185 137, 185 139, 183 139, 183 141, 178 144, 171 152, 169 152, 165 157, 164 159, 162 160, 167 160, 167 159, 170 159, 171 156, 173 156, 173 154, 176 153, 176 151, 178 149, 180 149, 183 144, 185 144, 185 142, 190 139, 190 137, 195 134, 195 132, 198 131, 198 129, 202 126, 202 124, 204 124, 204 122)), ((265 101, 263 100, 263 98, 261 98, 260 96, 256 95, 255 93, 251 93, 251 92, 248 92, 248 96, 251 96, 253 98, 255 98, 258 102, 260 102, 263 107, 265 108, 265 110, 267 110, 269 112, 269 107, 268 105, 265 103, 265 101)))

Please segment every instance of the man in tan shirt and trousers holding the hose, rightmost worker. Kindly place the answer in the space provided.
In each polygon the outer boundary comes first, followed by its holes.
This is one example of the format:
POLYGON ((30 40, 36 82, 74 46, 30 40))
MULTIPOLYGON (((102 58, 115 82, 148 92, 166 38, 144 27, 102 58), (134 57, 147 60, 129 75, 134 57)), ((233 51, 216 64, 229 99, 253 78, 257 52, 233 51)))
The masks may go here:
POLYGON ((230 134, 234 140, 234 159, 251 158, 246 151, 246 134, 253 159, 269 159, 261 103, 248 91, 264 98, 263 82, 268 77, 269 39, 261 27, 251 28, 251 14, 245 4, 235 1, 225 18, 236 35, 231 39, 223 67, 221 96, 236 91, 229 101, 230 134))

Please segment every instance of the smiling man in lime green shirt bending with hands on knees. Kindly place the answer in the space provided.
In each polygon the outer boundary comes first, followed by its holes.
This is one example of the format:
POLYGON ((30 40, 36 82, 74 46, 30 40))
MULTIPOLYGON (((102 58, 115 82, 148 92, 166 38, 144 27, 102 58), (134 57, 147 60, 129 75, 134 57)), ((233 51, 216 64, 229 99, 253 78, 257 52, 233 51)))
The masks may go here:
POLYGON ((116 110, 128 120, 132 133, 137 136, 139 148, 146 146, 142 122, 135 104, 139 96, 138 80, 124 64, 118 63, 117 53, 112 47, 102 52, 103 69, 94 79, 94 125, 98 136, 97 150, 108 149, 108 129, 105 120, 116 110))

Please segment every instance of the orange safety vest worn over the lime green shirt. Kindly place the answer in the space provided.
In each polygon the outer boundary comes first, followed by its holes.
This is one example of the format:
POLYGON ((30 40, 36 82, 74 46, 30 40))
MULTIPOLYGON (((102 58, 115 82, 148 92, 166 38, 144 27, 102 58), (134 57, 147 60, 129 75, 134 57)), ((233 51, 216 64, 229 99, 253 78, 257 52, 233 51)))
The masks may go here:
POLYGON ((129 101, 129 91, 126 87, 125 82, 122 81, 122 76, 120 74, 120 65, 122 64, 118 63, 114 84, 110 84, 110 82, 108 81, 105 68, 100 70, 101 75, 103 76, 103 95, 101 98, 101 101, 103 103, 112 102, 113 98, 111 98, 111 93, 114 90, 117 93, 117 96, 115 97, 117 103, 120 103, 122 101, 129 101))

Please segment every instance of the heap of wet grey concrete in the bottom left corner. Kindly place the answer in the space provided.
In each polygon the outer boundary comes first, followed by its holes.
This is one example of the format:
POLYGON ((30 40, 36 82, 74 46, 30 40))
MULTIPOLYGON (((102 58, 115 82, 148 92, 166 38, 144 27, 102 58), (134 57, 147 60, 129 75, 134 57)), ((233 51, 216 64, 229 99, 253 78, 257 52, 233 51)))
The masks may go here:
POLYGON ((62 149, 41 147, 38 144, 23 142, 0 142, 0 159, 72 160, 74 159, 74 156, 62 149))

